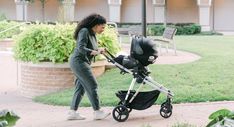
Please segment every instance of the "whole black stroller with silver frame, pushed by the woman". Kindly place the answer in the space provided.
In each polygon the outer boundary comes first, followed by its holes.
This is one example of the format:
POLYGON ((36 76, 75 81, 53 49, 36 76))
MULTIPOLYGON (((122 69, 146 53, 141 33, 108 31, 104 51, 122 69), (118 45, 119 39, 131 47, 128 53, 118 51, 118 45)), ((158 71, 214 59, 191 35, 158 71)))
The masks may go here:
POLYGON ((167 95, 167 100, 161 104, 160 115, 169 118, 172 114, 171 99, 173 93, 154 81, 150 76, 147 66, 153 64, 158 57, 156 44, 142 36, 133 36, 131 42, 130 56, 119 55, 114 57, 107 51, 104 56, 108 62, 113 63, 121 70, 122 74, 133 75, 128 91, 118 91, 116 96, 120 99, 118 106, 112 111, 113 118, 118 122, 128 119, 132 109, 144 110, 151 107, 157 100, 160 92, 167 95), (135 91, 133 87, 139 83, 139 88, 135 91), (152 91, 140 92, 143 85, 148 84, 154 88, 152 91))

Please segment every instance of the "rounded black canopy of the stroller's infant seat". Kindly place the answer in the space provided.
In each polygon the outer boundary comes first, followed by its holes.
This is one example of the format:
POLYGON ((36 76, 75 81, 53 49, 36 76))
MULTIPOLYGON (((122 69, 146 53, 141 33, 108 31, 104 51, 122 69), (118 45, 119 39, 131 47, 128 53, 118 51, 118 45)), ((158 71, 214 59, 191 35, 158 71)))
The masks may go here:
POLYGON ((158 57, 156 43, 142 36, 134 36, 132 38, 130 56, 137 59, 143 66, 148 66, 154 63, 158 57))

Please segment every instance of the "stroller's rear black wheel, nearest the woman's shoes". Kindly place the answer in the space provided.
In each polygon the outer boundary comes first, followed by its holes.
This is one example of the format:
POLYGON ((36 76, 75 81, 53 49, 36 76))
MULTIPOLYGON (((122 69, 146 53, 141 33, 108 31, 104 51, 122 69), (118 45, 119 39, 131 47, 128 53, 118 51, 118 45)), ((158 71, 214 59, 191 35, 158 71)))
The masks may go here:
POLYGON ((118 122, 124 122, 128 119, 129 112, 125 106, 119 105, 112 111, 113 118, 118 122))

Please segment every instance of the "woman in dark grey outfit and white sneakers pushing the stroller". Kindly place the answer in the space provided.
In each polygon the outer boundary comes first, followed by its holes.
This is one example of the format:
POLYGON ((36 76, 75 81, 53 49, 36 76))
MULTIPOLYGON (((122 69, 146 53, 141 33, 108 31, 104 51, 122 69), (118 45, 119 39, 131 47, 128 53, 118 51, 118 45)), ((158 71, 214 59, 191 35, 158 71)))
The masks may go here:
POLYGON ((97 81, 91 71, 91 61, 96 55, 105 52, 98 48, 96 34, 104 31, 106 19, 99 14, 91 14, 84 18, 75 30, 74 39, 77 46, 70 59, 71 70, 76 76, 75 92, 71 103, 68 120, 84 120, 77 111, 80 101, 86 92, 94 110, 94 119, 101 120, 110 113, 100 110, 97 94, 97 81))

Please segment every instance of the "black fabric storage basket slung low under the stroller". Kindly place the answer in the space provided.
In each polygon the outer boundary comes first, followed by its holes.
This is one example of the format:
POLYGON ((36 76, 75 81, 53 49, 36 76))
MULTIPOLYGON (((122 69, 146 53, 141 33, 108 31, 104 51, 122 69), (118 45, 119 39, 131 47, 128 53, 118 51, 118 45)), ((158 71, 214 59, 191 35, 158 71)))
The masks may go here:
MULTIPOLYGON (((123 91, 123 90, 118 91, 118 93, 116 93, 116 96, 120 99, 121 102, 123 102, 127 95, 127 92, 128 91, 123 91)), ((134 94, 135 91, 130 91, 127 103, 133 97, 134 94)), ((130 104, 128 104, 128 107, 136 110, 147 109, 154 104, 154 102, 158 99, 159 94, 160 91, 158 90, 139 92, 137 96, 134 98, 134 100, 130 104)))

